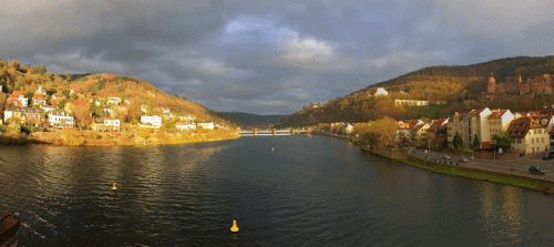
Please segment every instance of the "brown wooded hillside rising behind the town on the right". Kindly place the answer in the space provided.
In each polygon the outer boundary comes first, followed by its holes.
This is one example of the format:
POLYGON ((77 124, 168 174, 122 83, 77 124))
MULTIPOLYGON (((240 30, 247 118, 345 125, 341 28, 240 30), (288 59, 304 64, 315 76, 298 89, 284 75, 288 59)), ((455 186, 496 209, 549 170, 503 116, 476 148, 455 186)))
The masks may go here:
MULTIPOLYGON (((286 117, 284 125, 310 125, 331 122, 363 122, 394 119, 439 117, 472 107, 510 107, 526 111, 554 103, 552 94, 486 95, 486 79, 494 75, 502 83, 514 75, 531 79, 554 74, 554 56, 507 58, 458 66, 430 66, 371 84, 321 104, 311 104, 286 117), (387 96, 373 96, 384 88, 387 96), (398 106, 396 99, 430 101, 429 106, 398 106)), ((552 82, 554 83, 554 82, 552 82)))

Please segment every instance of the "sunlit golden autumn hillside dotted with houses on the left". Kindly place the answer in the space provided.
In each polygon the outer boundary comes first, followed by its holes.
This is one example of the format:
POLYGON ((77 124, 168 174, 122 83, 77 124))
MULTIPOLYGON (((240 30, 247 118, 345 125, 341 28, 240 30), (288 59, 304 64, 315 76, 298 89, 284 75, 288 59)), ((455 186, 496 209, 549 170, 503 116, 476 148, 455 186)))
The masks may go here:
POLYGON ((107 73, 58 75, 50 73, 45 66, 0 60, 0 106, 7 104, 12 92, 21 92, 31 105, 33 97, 38 96, 35 92, 43 89, 47 104, 71 112, 81 126, 104 116, 115 116, 124 123, 137 123, 142 114, 163 115, 167 112, 230 126, 228 121, 198 103, 167 94, 147 81, 130 76, 107 73), (109 102, 110 97, 119 97, 121 103, 114 105, 109 102))

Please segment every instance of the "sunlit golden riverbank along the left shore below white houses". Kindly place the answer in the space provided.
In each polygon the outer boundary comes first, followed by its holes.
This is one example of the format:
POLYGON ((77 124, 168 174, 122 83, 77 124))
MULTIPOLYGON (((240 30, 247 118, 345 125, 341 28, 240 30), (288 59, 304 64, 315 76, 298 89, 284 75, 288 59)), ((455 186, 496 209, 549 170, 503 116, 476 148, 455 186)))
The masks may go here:
MULTIPOLYGON (((202 142, 236 140, 238 133, 230 131, 167 132, 164 130, 133 128, 122 132, 78 131, 73 128, 33 132, 27 143, 70 146, 130 146, 176 145, 202 142)), ((23 141, 20 141, 24 143, 23 141)))

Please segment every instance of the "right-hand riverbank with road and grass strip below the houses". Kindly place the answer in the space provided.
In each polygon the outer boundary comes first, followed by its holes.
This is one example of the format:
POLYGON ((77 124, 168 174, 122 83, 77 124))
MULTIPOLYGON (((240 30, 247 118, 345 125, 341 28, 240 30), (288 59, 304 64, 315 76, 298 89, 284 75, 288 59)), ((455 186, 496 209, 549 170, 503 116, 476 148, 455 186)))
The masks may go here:
POLYGON ((370 152, 372 154, 397 161, 412 167, 427 169, 433 173, 440 173, 456 177, 466 177, 478 181, 486 181, 497 184, 505 184, 527 189, 533 189, 542 192, 545 194, 554 194, 554 183, 545 179, 537 179, 529 176, 521 176, 507 173, 497 173, 488 169, 478 169, 472 167, 465 167, 463 164, 458 165, 444 165, 434 162, 423 161, 410 156, 407 152, 391 151, 384 148, 373 148, 362 146, 363 151, 370 152))

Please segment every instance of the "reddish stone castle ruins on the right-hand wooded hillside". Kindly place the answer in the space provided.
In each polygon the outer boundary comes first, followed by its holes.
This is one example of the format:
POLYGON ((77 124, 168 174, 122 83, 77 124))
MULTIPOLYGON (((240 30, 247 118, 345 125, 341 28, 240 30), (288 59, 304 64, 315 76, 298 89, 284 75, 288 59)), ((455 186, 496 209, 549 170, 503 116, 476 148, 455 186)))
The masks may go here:
POLYGON ((554 88, 554 75, 543 74, 530 79, 523 79, 521 74, 507 78, 503 83, 496 83, 496 78, 491 74, 486 82, 488 95, 502 94, 552 94, 554 88))

